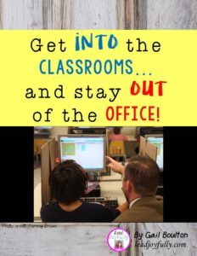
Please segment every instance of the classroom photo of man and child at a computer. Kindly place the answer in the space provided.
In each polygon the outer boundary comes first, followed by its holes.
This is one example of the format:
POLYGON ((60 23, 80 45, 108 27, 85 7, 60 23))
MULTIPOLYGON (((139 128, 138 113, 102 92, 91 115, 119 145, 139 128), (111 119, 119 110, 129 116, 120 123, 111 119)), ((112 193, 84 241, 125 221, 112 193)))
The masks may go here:
POLYGON ((158 126, 35 127, 35 221, 162 221, 163 147, 158 126))

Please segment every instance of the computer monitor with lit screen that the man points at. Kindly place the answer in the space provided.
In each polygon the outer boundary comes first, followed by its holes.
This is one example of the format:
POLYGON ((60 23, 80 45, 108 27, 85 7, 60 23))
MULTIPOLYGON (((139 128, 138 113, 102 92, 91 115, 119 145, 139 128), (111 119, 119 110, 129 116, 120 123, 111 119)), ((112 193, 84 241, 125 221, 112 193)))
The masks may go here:
POLYGON ((106 172, 105 136, 102 134, 59 136, 59 160, 75 160, 86 172, 106 172))

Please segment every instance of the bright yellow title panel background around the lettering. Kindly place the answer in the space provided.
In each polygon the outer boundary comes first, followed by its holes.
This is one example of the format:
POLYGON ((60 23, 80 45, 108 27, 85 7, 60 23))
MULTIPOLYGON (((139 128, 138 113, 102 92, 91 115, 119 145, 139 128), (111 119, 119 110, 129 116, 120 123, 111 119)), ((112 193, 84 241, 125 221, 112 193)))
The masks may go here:
MULTIPOLYGON (((197 31, 0 31, 0 125, 197 125, 197 31), (98 50, 98 40, 93 41, 93 49, 75 51, 76 32, 87 35, 93 32, 98 34, 114 34, 118 39, 115 49, 106 47, 98 50), (41 52, 33 52, 30 44, 33 38, 41 38, 44 44, 41 52), (65 41, 66 51, 60 52, 59 47, 50 53, 46 45, 49 41, 58 43, 62 38, 65 41), (137 49, 136 38, 145 41, 149 52, 127 51, 127 39, 132 40, 137 49), (160 42, 160 51, 153 52, 152 44, 160 42), (89 59, 101 61, 106 59, 131 59, 133 73, 124 75, 115 74, 59 74, 42 75, 38 65, 42 59, 51 59, 57 63, 59 59, 89 59), (142 73, 152 73, 152 76, 142 73), (140 73, 138 76, 136 73, 140 73), (138 83, 143 80, 167 81, 163 86, 163 96, 131 96, 130 85, 133 80, 138 83), (53 96, 59 84, 64 85, 65 99, 53 96), (87 84, 95 91, 102 87, 109 93, 109 88, 121 88, 121 92, 114 102, 106 99, 74 98, 77 87, 86 87, 87 84), (48 88, 50 99, 26 99, 25 90, 31 87, 37 94, 37 88, 48 88), (160 120, 157 121, 107 121, 105 111, 108 106, 156 106, 160 108, 160 120), (44 112, 53 108, 50 115, 51 122, 45 122, 44 112), (84 122, 65 122, 62 111, 76 108, 83 113, 84 122), (32 114, 36 111, 43 113, 42 120, 35 122, 32 114), (96 122, 88 122, 89 112, 97 113, 96 122)), ((157 86, 156 86, 157 88, 157 86)), ((157 92, 157 90, 155 90, 157 92)), ((111 94, 110 94, 111 96, 111 94)))

